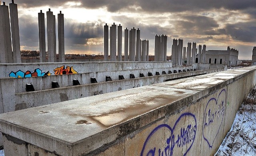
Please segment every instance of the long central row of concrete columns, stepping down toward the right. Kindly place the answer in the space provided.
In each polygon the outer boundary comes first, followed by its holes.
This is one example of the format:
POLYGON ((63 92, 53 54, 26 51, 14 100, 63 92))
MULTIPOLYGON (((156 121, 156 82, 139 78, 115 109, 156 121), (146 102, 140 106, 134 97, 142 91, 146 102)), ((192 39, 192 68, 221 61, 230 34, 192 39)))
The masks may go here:
MULTIPOLYGON (((104 61, 122 61, 122 26, 110 26, 110 48, 108 48, 108 25, 104 25, 104 61), (116 59, 117 36, 117 59, 116 59), (110 50, 110 59, 108 58, 110 50)), ((124 30, 124 61, 148 61, 148 40, 140 39, 140 30, 124 30), (129 51, 129 54, 128 54, 129 51)))

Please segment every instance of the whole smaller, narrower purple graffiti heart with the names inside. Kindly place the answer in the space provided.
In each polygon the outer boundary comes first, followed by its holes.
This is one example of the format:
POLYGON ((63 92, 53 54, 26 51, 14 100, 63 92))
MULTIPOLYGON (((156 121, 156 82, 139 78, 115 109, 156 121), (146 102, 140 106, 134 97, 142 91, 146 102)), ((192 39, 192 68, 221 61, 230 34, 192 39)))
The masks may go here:
POLYGON ((209 148, 212 148, 213 142, 220 130, 222 124, 224 111, 226 107, 226 90, 221 90, 216 98, 211 98, 204 110, 204 120, 202 125, 203 137, 207 142, 209 148), (212 132, 211 136, 206 133, 212 132))

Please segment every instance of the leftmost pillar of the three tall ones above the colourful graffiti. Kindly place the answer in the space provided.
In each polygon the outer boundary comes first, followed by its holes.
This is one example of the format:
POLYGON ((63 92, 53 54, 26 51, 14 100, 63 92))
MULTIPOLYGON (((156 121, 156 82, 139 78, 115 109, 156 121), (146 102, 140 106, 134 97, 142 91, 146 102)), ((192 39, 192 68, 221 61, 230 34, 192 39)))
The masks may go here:
POLYGON ((45 44, 45 26, 44 13, 42 10, 38 13, 38 30, 39 30, 39 59, 40 62, 46 62, 46 44, 45 44))

